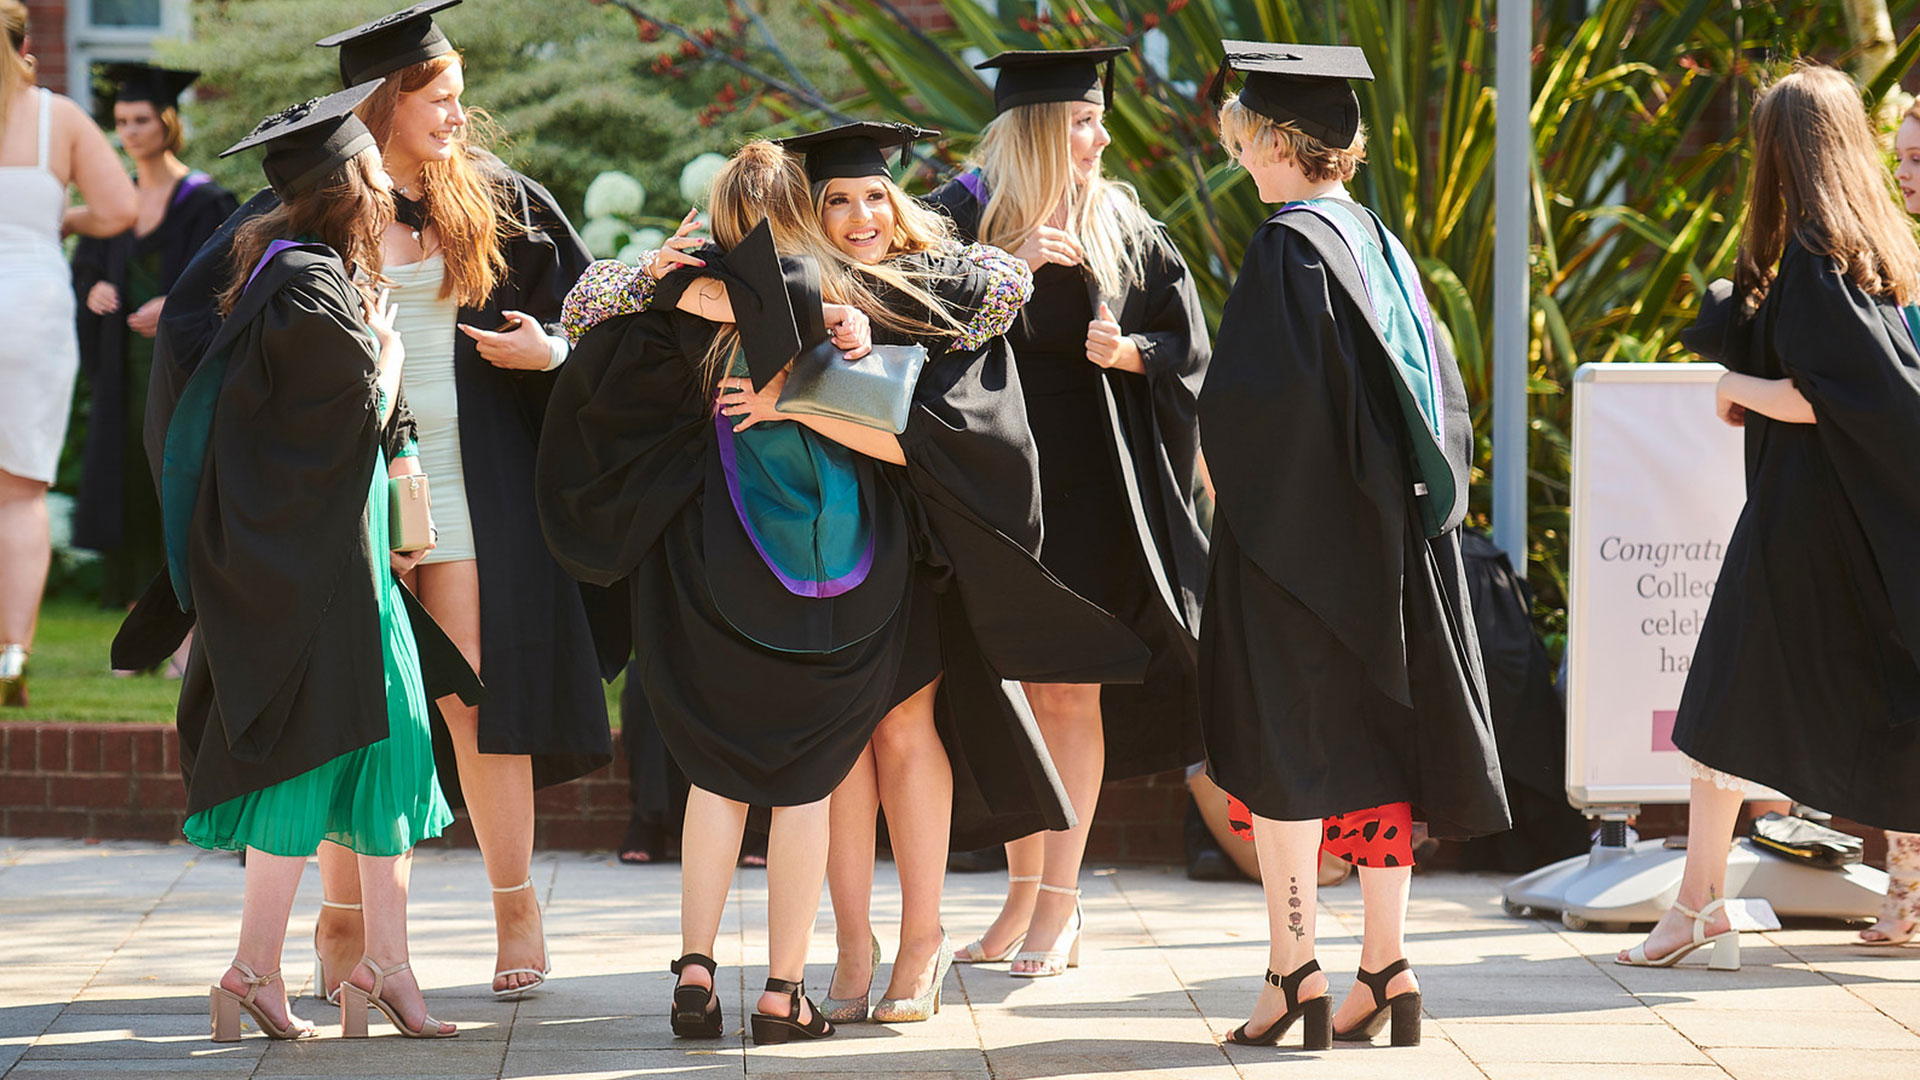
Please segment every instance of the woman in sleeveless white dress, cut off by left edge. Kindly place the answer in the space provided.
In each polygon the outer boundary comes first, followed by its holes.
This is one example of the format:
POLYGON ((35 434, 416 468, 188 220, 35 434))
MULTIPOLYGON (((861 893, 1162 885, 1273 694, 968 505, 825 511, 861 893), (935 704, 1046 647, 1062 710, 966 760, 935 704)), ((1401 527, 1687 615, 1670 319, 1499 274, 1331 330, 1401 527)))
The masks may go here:
POLYGON ((134 221, 132 181, 100 129, 33 85, 27 6, 0 0, 0 707, 27 703, 27 653, 52 559, 46 488, 60 465, 79 371, 73 288, 60 238, 134 221), (67 208, 67 184, 84 206, 67 208))

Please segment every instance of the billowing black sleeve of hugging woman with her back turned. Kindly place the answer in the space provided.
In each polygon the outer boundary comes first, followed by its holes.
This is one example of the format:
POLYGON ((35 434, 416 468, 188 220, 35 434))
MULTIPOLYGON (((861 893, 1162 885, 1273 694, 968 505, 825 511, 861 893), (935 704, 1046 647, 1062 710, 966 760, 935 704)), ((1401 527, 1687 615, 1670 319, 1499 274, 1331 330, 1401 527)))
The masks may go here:
POLYGON ((540 527, 578 580, 628 577, 699 492, 710 423, 689 359, 712 325, 678 311, 593 327, 559 371, 534 463, 540 527))

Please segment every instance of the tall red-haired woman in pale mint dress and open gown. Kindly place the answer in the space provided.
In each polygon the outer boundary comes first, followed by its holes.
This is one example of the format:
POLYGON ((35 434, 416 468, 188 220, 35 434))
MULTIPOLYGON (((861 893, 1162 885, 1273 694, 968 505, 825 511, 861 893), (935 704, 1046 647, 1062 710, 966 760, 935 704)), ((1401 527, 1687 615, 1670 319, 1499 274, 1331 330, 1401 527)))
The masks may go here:
MULTIPOLYGON (((415 4, 321 44, 340 48, 344 85, 384 79, 359 113, 394 177, 382 259, 436 530, 409 584, 488 686, 478 709, 434 701, 451 746, 440 776, 493 884, 492 990, 516 999, 551 967, 528 874, 534 790, 612 755, 586 600, 547 553, 532 498, 551 371, 568 352, 545 323, 589 258, 553 196, 470 138, 486 117, 461 104, 465 65, 432 19, 457 2, 415 4)), ((616 673, 624 655, 609 659, 616 673)), ((332 986, 357 947, 357 897, 351 863, 332 849, 323 874, 319 978, 332 986)))

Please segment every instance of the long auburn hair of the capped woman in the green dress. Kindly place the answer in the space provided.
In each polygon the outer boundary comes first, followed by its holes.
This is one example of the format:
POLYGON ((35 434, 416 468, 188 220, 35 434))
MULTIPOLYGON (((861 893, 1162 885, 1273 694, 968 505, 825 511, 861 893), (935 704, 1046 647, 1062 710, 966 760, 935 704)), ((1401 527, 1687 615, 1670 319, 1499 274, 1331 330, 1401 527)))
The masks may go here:
POLYGON ((372 298, 380 277, 380 233, 394 221, 394 196, 372 183, 380 167, 380 152, 369 146, 342 163, 326 181, 296 194, 259 217, 250 217, 234 229, 234 248, 228 259, 227 290, 221 292, 221 315, 230 315, 246 292, 253 265, 267 246, 288 236, 319 236, 355 273, 361 294, 372 298))

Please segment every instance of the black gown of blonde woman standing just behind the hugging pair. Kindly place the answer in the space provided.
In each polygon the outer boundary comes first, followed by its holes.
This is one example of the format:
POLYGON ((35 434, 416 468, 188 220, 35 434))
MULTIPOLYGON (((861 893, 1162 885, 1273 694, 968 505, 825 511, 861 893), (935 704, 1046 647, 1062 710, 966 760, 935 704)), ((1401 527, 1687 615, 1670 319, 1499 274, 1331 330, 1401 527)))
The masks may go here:
MULTIPOLYGON (((962 236, 977 238, 985 206, 968 184, 948 181, 927 196, 927 204, 952 217, 962 236)), ((1110 475, 1102 480, 1112 486, 1106 492, 1110 498, 1102 502, 1114 505, 1112 517, 1121 528, 1131 525, 1125 555, 1117 565, 1091 567, 1100 559, 1091 552, 1071 550, 1073 544, 1058 544, 1054 532, 1068 534, 1069 523, 1056 528, 1054 521, 1046 521, 1048 542, 1041 552, 1046 567, 1069 582, 1075 582, 1075 567, 1089 567, 1092 575, 1108 578, 1089 582, 1085 594, 1110 605, 1152 650, 1144 682, 1108 684, 1100 690, 1110 780, 1185 767, 1204 753, 1196 636, 1208 540, 1194 498, 1200 492, 1198 394, 1212 348, 1187 261, 1162 229, 1142 234, 1140 242, 1144 282, 1129 286, 1121 296, 1100 296, 1092 277, 1085 273, 1066 267, 1058 275, 1043 271, 1035 275, 1033 300, 1021 315, 1025 319, 1058 304, 1058 294, 1050 296, 1054 288, 1085 288, 1087 309, 1098 311, 1104 300, 1140 348, 1146 365, 1144 375, 1096 373, 1102 388, 1098 415, 1104 423, 1094 438, 1106 446, 1110 475)), ((1018 329, 1010 336, 1018 363, 1018 329)), ((1075 357, 1085 363, 1079 350, 1075 357)), ((1033 421, 1043 423, 1039 417, 1033 421)), ((1048 434, 1077 442, 1087 432, 1037 434, 1043 442, 1048 434)), ((1041 479, 1048 490, 1062 482, 1050 477, 1046 454, 1041 455, 1041 479)), ((1085 479, 1075 477, 1071 482, 1083 484, 1085 479)))

